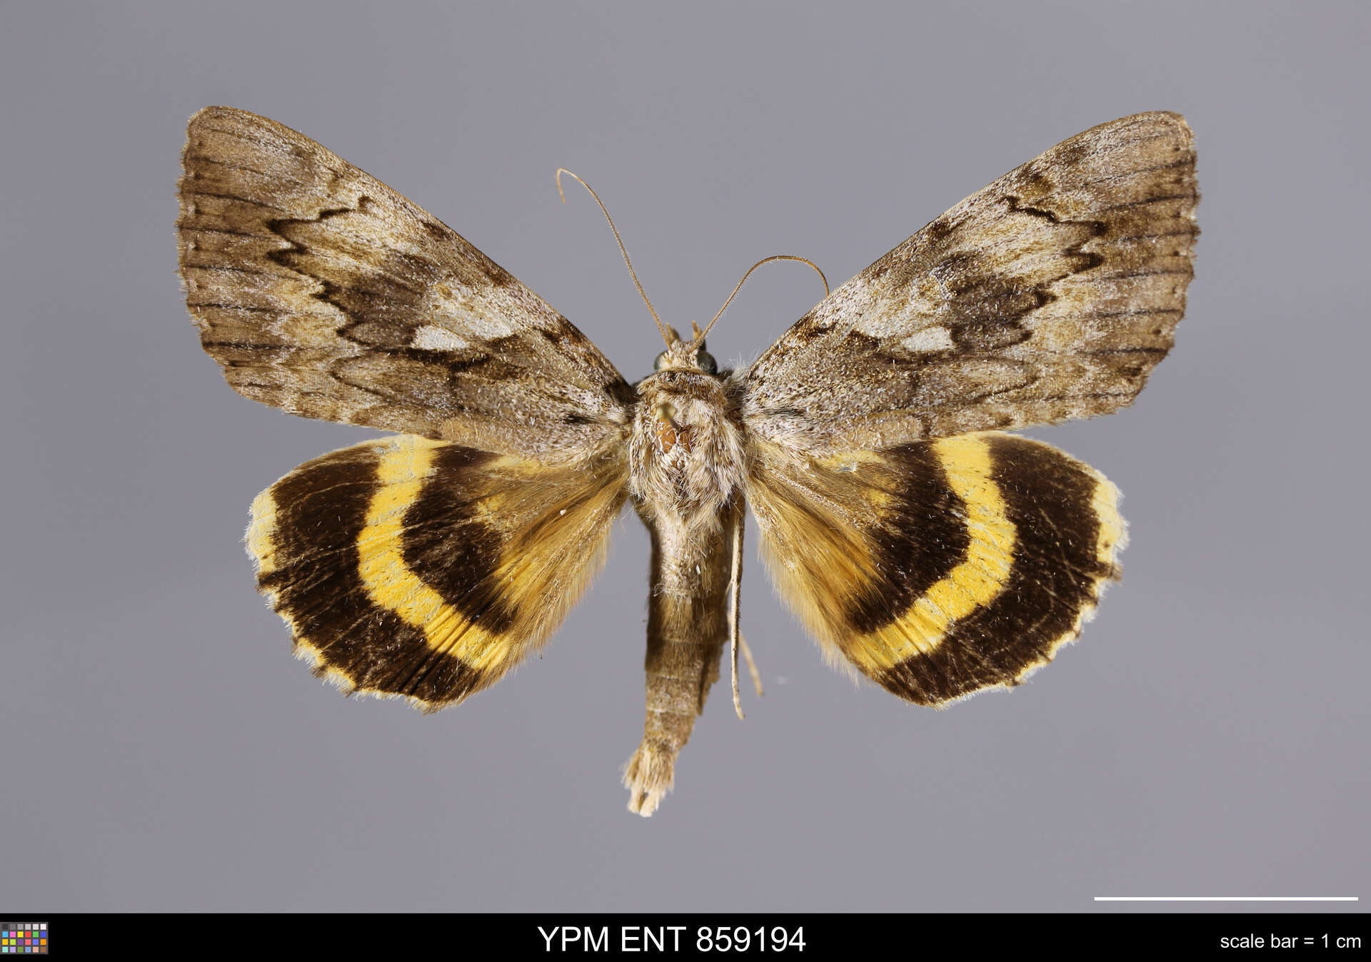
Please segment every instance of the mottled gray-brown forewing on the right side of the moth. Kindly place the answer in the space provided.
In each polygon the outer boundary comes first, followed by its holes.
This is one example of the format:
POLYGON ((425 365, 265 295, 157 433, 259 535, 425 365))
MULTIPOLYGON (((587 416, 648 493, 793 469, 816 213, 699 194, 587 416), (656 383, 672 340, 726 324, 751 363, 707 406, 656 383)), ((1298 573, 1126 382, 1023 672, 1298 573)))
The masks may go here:
POLYGON ((1194 162, 1185 119, 1153 112, 1005 174, 758 358, 749 428, 824 455, 1128 404, 1185 310, 1194 162))

